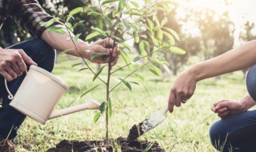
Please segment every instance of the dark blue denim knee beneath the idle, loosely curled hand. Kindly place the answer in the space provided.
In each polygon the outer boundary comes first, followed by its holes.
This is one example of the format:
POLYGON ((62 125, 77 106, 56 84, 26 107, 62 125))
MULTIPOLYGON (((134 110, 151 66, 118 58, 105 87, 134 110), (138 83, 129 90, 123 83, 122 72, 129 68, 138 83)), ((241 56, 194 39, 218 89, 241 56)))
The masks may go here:
POLYGON ((256 110, 214 122, 210 127, 210 141, 220 151, 256 151, 256 110))

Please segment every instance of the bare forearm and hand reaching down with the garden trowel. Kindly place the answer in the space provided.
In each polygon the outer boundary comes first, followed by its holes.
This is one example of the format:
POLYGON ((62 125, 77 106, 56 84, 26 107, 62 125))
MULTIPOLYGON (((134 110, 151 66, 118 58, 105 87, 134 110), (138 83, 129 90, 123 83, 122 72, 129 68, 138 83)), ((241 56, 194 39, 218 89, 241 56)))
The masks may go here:
POLYGON ((174 106, 181 106, 182 102, 185 103, 191 98, 198 81, 234 70, 242 70, 255 63, 256 41, 254 40, 216 58, 191 66, 175 80, 170 90, 169 111, 173 112, 174 106))

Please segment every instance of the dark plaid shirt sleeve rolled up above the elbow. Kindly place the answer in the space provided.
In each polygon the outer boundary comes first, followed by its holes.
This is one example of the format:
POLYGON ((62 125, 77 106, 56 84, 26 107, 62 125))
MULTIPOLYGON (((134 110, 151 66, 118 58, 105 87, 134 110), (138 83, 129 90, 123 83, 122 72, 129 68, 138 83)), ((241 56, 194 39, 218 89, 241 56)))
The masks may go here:
MULTIPOLYGON (((37 0, 18 0, 18 5, 15 6, 10 17, 34 38, 40 38, 42 32, 49 28, 41 25, 54 18, 42 9, 37 0)), ((51 26, 58 24, 62 23, 54 22, 51 26)))

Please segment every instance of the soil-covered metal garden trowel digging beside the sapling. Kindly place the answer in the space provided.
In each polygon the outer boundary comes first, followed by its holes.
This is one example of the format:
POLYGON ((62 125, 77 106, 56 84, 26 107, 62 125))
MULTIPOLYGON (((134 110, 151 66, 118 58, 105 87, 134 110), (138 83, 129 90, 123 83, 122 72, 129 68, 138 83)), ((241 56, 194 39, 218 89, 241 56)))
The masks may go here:
POLYGON ((130 129, 127 141, 133 141, 142 134, 145 134, 147 131, 152 130, 154 127, 158 126, 166 118, 165 114, 167 110, 168 102, 167 105, 161 111, 156 111, 154 114, 151 114, 149 118, 144 119, 138 125, 134 125, 130 129))

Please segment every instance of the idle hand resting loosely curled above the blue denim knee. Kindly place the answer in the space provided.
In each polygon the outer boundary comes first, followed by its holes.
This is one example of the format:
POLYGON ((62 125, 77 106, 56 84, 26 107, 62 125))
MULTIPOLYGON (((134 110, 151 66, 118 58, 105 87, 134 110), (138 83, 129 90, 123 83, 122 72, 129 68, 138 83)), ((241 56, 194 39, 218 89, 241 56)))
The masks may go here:
POLYGON ((247 109, 245 109, 245 105, 242 104, 242 101, 232 102, 230 100, 222 100, 214 103, 211 110, 217 113, 218 117, 226 118, 232 114, 240 114, 247 109))

